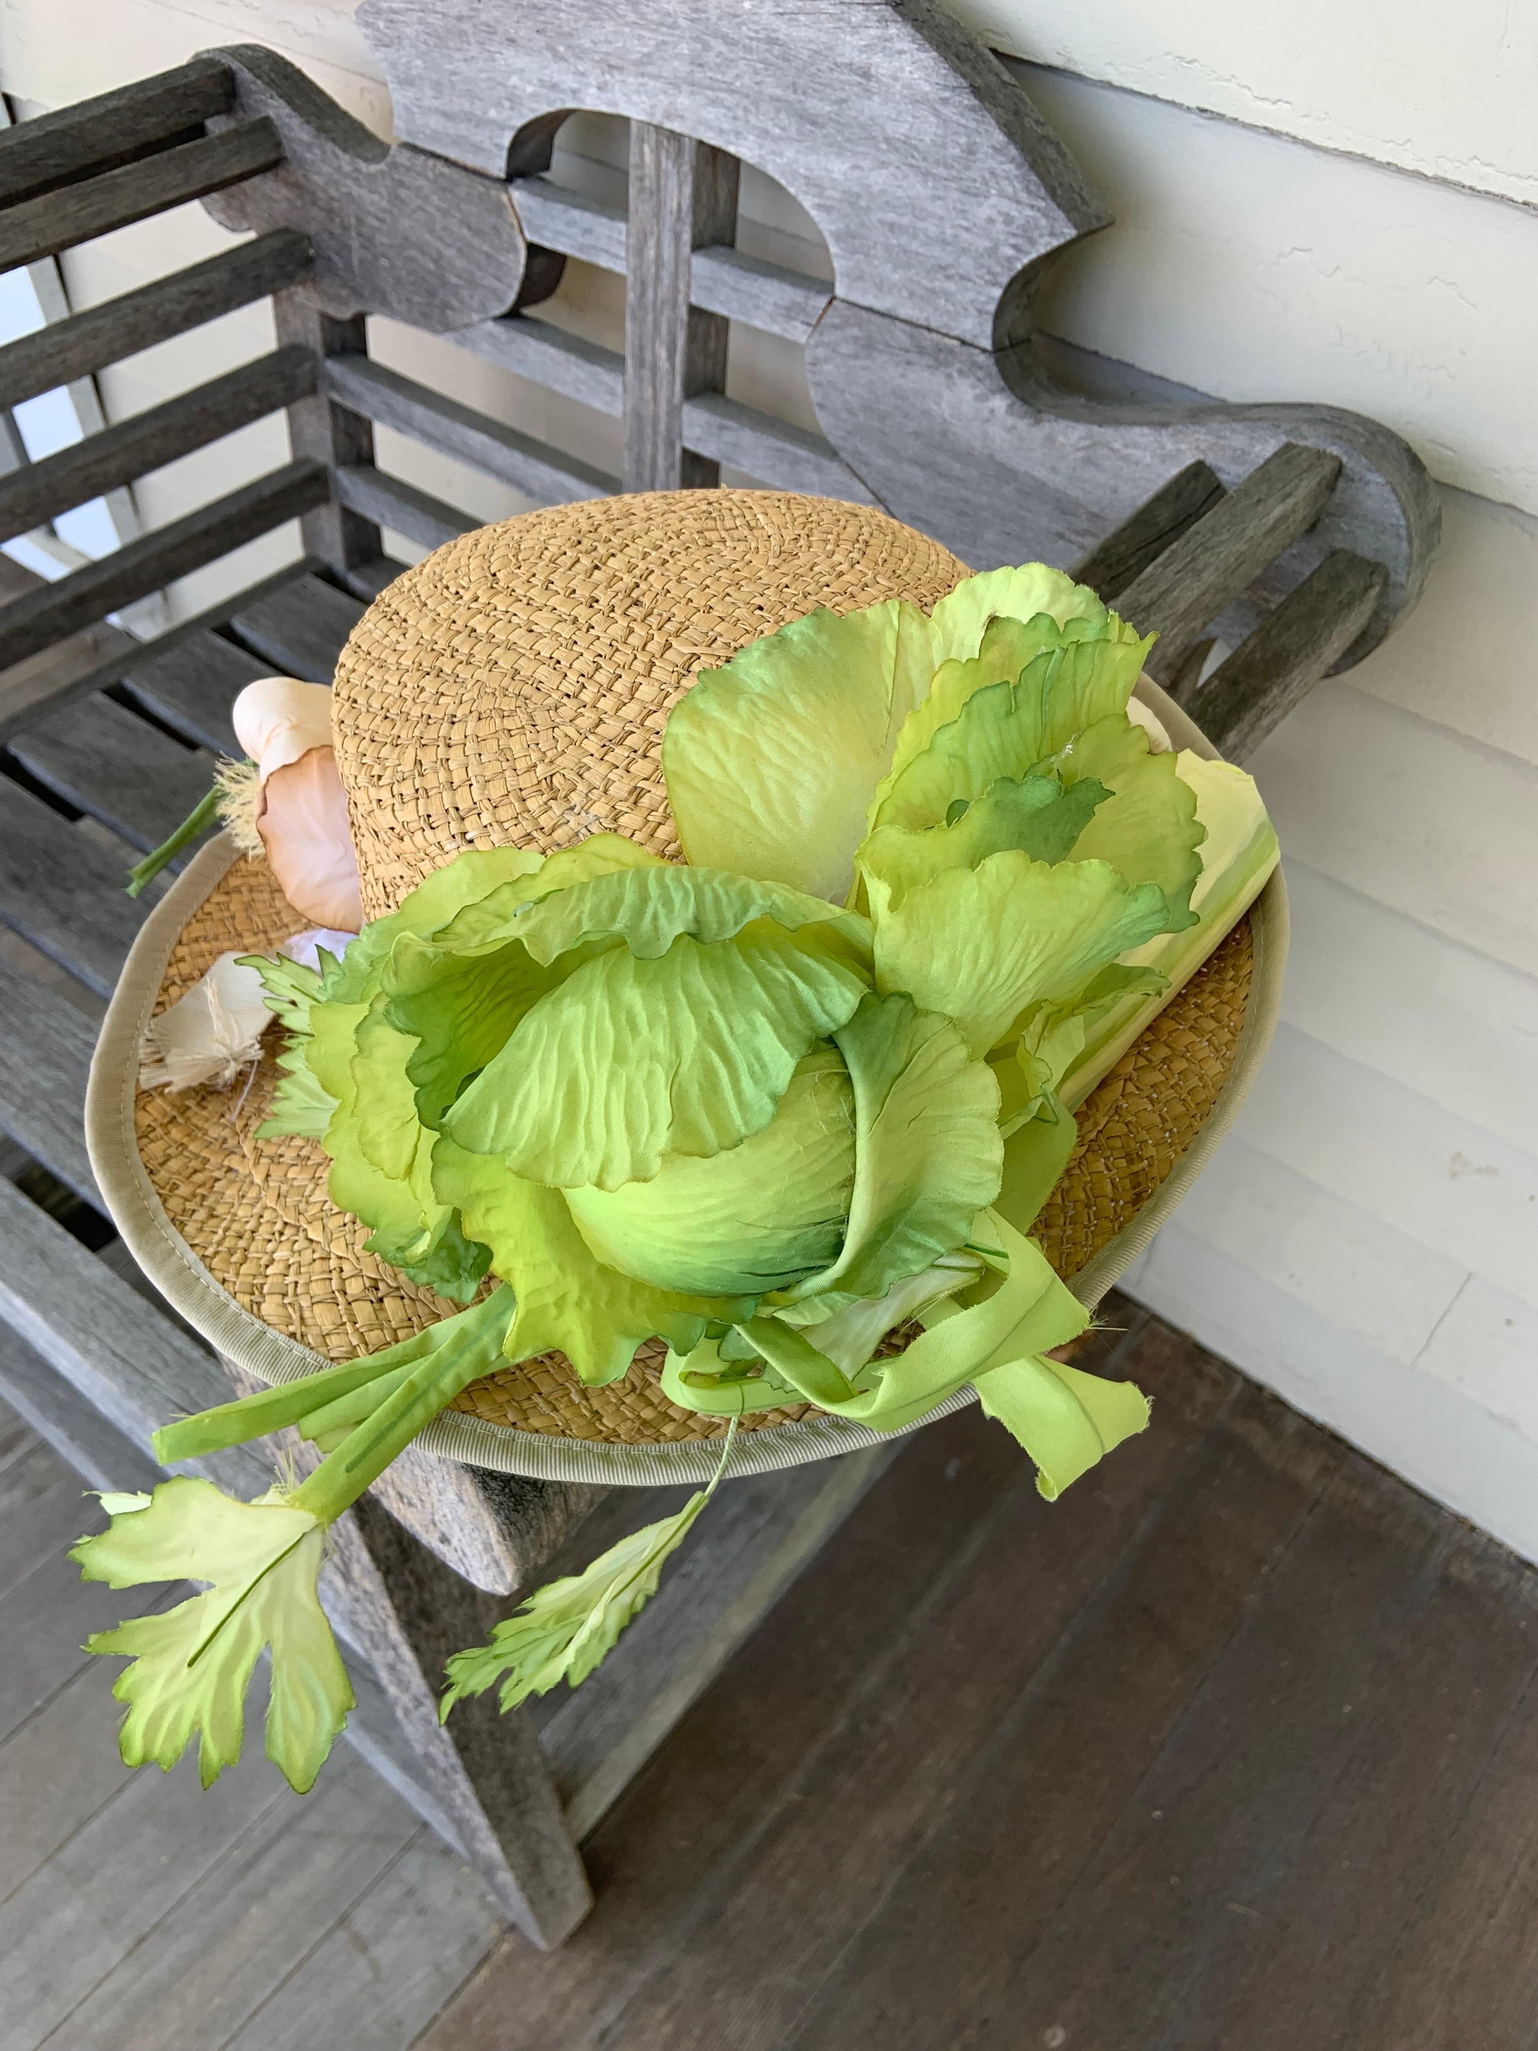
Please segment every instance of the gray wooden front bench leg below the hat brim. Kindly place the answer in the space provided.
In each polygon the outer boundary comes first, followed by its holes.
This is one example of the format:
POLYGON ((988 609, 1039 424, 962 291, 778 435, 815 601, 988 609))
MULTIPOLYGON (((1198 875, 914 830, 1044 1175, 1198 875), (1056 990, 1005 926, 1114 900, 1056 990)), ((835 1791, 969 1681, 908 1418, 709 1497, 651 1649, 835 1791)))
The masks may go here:
POLYGON ((484 1639, 507 1598, 461 1581, 388 1510, 361 1497, 332 1526, 328 1590, 347 1604, 347 1635, 369 1659, 422 1776, 466 1856, 527 1938, 550 1951, 593 1905, 582 1858, 562 1817, 527 1711, 504 1717, 474 1696, 439 1723, 443 1661, 484 1639))

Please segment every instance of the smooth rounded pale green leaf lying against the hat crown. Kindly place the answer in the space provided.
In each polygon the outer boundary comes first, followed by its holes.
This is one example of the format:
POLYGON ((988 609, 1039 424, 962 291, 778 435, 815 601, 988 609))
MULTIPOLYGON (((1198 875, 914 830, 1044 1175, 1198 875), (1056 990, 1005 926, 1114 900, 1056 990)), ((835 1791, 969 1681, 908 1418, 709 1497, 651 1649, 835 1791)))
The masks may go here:
POLYGON ((701 671, 662 732, 689 861, 841 904, 872 792, 933 671, 929 621, 904 601, 818 609, 701 671))

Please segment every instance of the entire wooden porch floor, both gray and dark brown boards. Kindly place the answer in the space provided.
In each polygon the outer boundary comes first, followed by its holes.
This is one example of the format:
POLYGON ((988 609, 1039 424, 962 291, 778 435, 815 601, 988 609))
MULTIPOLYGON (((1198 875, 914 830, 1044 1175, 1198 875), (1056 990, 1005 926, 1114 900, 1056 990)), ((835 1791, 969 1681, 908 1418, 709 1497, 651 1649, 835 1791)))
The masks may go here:
POLYGON ((917 1434, 552 1957, 349 1754, 310 1805, 125 1778, 74 1651, 121 1598, 12 1430, 4 2051, 1538 2045, 1538 1575, 1155 1321, 1116 1370, 1155 1425, 1056 1505, 917 1434))

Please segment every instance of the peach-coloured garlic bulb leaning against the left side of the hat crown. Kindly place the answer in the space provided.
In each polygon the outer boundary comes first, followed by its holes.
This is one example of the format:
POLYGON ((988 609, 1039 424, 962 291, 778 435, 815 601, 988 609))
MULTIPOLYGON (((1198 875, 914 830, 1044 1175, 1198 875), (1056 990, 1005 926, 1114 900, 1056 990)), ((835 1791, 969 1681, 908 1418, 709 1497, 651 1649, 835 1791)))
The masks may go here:
POLYGON ((254 827, 279 890, 316 925, 363 925, 347 794, 330 745, 330 689, 295 677, 248 683, 232 708, 236 738, 256 763, 254 827))

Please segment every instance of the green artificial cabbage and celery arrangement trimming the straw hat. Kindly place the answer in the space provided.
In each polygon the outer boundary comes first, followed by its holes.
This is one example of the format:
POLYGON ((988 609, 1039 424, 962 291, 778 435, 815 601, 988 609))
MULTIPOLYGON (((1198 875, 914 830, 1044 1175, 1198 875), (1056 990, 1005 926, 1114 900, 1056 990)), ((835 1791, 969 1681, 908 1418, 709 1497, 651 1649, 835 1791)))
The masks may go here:
MULTIPOLYGON (((162 1434, 178 1458, 297 1423, 328 1456, 244 1505, 197 1686, 180 1639, 154 1639, 135 1756, 201 1735, 217 1770, 238 1750, 254 1647, 277 1672, 299 1643, 273 1608, 289 1581, 318 1672, 312 1530, 500 1362, 558 1350, 599 1384, 662 1337, 685 1407, 806 1401, 876 1430, 972 1380, 1048 1497, 1142 1430, 1138 1391, 1046 1358, 1087 1315, 1025 1233, 1070 1103, 1276 859, 1249 779, 1150 751, 1128 716, 1146 648, 1040 564, 931 615, 812 613, 673 710, 685 863, 617 835, 461 853, 338 962, 267 966, 291 1030, 267 1130, 314 1134, 373 1251, 470 1309, 162 1434), (269 1585, 269 1559, 289 1579, 269 1585)), ((144 1542, 82 1557, 224 1559, 197 1544, 203 1495, 170 1487, 123 1512, 144 1542)), ((703 1501, 535 1596, 455 1692, 580 1680, 703 1501)), ((301 1747, 269 1723, 295 1782, 340 1721, 334 1676, 326 1702, 301 1747)))

